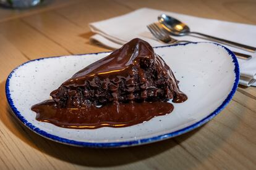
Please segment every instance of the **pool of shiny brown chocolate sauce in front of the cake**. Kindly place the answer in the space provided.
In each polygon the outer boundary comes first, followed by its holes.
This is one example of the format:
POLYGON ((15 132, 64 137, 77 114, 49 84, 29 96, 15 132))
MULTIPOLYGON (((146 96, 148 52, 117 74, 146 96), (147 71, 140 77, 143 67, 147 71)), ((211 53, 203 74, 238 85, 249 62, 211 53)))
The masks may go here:
POLYGON ((36 119, 53 123, 56 126, 95 129, 98 127, 125 127, 148 121, 155 116, 166 115, 173 111, 168 102, 130 102, 109 103, 103 107, 56 108, 53 100, 46 100, 32 107, 36 119))

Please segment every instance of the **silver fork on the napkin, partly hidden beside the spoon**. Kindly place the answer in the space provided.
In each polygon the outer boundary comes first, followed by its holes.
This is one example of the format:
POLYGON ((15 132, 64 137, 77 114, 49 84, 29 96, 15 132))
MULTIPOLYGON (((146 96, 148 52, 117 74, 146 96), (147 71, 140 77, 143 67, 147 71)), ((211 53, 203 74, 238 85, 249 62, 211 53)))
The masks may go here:
MULTIPOLYGON (((168 44, 182 44, 187 42, 193 42, 193 41, 186 41, 186 40, 177 40, 172 38, 166 30, 162 28, 161 25, 158 25, 157 23, 151 23, 150 25, 147 25, 148 30, 150 30, 151 34, 155 36, 156 39, 159 39, 160 41, 163 41, 164 43, 168 44)), ((237 58, 249 60, 252 58, 252 55, 242 54, 240 52, 234 52, 237 58)))

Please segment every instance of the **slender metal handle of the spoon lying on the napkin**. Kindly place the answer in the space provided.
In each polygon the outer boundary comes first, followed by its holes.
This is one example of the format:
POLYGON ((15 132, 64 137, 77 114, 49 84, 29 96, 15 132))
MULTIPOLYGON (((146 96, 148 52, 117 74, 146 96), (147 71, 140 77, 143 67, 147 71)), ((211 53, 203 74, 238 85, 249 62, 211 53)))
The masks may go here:
POLYGON ((229 40, 226 40, 226 39, 222 39, 222 38, 218 38, 218 37, 215 37, 215 36, 210 36, 210 35, 203 34, 203 33, 198 33, 198 32, 190 32, 189 34, 198 34, 198 35, 203 36, 203 37, 205 37, 205 38, 207 38, 211 41, 220 42, 222 44, 237 47, 239 49, 243 49, 243 50, 249 51, 249 52, 256 52, 256 47, 247 46, 245 44, 240 44, 238 42, 233 42, 233 41, 229 41, 229 40))

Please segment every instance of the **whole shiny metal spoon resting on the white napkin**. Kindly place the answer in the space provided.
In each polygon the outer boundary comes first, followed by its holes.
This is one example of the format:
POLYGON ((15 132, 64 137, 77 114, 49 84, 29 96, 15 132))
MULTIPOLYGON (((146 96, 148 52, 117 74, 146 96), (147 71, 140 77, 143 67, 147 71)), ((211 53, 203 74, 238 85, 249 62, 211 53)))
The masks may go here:
POLYGON ((197 34, 199 36, 202 36, 200 38, 206 38, 206 39, 209 39, 210 41, 220 42, 222 44, 237 47, 245 51, 256 52, 256 47, 251 47, 244 44, 239 44, 237 42, 229 41, 226 39, 210 36, 207 34, 190 31, 189 26, 187 26, 185 23, 182 23, 176 18, 170 17, 165 14, 158 16, 158 21, 161 23, 161 25, 165 30, 167 30, 170 34, 173 34, 174 36, 185 36, 185 35, 197 34))

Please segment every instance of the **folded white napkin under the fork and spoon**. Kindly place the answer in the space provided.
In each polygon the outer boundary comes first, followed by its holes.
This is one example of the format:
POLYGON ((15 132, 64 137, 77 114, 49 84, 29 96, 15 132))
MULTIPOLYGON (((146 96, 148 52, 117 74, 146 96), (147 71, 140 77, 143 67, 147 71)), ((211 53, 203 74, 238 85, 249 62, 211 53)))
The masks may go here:
MULTIPOLYGON (((249 46, 256 46, 256 26, 242 23, 224 22, 206 18, 192 17, 174 12, 142 8, 119 17, 110 18, 100 22, 90 23, 93 35, 90 40, 100 43, 111 49, 118 49, 133 38, 141 38, 149 42, 151 46, 163 46, 163 42, 158 41, 151 35, 147 25, 157 21, 160 14, 171 15, 189 25, 190 30, 212 36, 241 42, 249 46)), ((192 36, 174 37, 179 40, 205 41, 192 36)), ((225 45, 226 46, 226 45, 225 45)), ((256 54, 245 52, 231 46, 226 46, 232 51, 242 52, 252 55, 250 60, 238 59, 241 71, 239 83, 245 86, 256 86, 256 54)))

